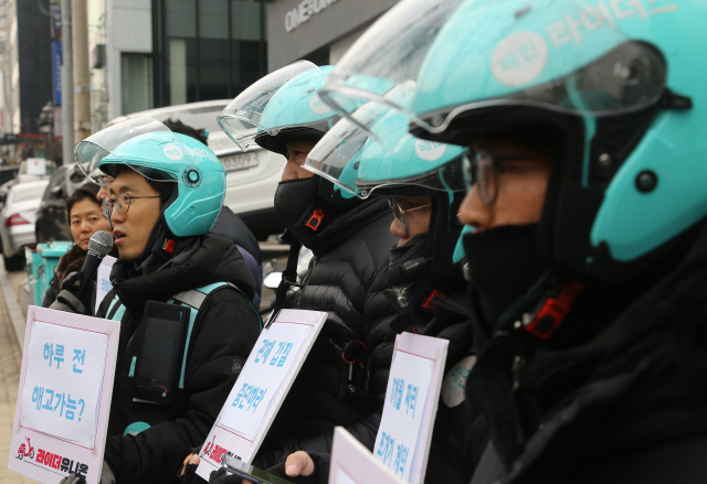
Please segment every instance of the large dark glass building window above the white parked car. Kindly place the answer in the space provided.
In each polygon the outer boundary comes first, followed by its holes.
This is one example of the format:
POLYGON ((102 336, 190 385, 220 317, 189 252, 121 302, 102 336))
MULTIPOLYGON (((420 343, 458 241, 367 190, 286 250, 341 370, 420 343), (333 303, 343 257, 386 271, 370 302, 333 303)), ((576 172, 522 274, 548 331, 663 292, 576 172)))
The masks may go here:
POLYGON ((154 0, 152 6, 159 106, 232 98, 267 73, 262 2, 154 0))

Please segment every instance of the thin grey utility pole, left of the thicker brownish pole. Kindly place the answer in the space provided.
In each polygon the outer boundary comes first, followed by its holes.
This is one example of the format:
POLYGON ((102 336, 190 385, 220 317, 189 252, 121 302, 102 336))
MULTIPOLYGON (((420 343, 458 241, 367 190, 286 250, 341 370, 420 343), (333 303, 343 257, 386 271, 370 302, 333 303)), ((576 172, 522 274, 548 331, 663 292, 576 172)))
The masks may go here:
POLYGON ((74 63, 71 40, 71 0, 62 6, 62 158, 74 161, 74 63))

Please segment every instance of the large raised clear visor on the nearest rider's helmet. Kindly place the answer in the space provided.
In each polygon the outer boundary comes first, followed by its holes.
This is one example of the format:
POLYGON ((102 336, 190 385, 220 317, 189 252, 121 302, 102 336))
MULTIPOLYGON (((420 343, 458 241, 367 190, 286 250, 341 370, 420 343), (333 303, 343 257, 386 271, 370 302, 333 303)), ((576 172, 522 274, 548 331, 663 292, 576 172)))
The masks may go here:
POLYGON ((320 95, 334 106, 367 95, 432 133, 462 112, 500 106, 597 117, 644 109, 665 92, 665 58, 630 40, 602 4, 407 0, 351 47, 320 95), (366 88, 371 79, 414 79, 415 97, 393 103, 366 88))

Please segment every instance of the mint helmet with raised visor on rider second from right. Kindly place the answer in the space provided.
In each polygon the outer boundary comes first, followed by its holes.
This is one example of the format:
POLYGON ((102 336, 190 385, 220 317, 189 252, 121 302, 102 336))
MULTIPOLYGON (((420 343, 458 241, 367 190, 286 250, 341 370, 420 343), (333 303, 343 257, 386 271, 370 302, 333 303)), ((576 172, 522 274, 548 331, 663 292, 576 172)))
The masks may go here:
MULTIPOLYGON (((400 100, 410 95, 400 85, 387 98, 400 100)), ((429 196, 432 215, 424 255, 435 287, 447 293, 461 283, 452 254, 462 229, 456 213, 465 193, 465 152, 466 148, 413 137, 400 111, 369 103, 351 119, 338 121, 309 152, 304 168, 359 198, 429 196), (371 131, 384 132, 384 143, 369 136, 371 131)), ((392 207, 395 201, 389 198, 389 203, 392 207)))

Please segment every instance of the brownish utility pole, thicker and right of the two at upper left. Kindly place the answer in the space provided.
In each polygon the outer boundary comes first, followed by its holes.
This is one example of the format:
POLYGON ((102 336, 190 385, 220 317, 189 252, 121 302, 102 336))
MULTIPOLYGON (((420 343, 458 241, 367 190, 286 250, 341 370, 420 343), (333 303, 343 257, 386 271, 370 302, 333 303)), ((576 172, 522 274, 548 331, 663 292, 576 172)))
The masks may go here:
POLYGON ((74 141, 91 136, 91 73, 88 71, 88 8, 86 0, 72 0, 74 47, 74 141))

